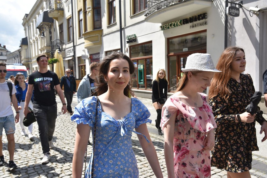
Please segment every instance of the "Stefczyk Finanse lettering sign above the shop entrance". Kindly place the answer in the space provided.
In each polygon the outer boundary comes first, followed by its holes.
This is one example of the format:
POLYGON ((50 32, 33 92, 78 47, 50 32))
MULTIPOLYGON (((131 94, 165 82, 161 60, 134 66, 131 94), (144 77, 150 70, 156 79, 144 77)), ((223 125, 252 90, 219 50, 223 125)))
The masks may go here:
POLYGON ((201 13, 201 14, 189 17, 189 18, 184 18, 182 20, 177 20, 177 21, 174 21, 174 22, 166 23, 164 25, 161 25, 160 29, 161 30, 166 30, 166 29, 178 27, 178 26, 181 26, 181 25, 184 25, 184 24, 197 22, 197 21, 200 21, 200 20, 203 20, 203 19, 207 19, 207 13, 201 13))

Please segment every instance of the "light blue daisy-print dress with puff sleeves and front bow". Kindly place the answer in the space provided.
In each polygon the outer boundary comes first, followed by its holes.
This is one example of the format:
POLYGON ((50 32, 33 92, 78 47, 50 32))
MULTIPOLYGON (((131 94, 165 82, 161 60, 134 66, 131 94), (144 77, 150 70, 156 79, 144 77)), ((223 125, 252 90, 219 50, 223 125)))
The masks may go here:
POLYGON ((93 177, 138 178, 139 171, 131 137, 132 132, 135 132, 134 128, 151 123, 148 109, 139 99, 132 98, 131 112, 122 120, 115 120, 102 110, 100 102, 97 108, 96 105, 95 96, 83 99, 71 117, 77 124, 88 124, 92 128, 92 134, 96 124, 95 151, 91 155, 85 177, 91 177, 94 158, 93 177))

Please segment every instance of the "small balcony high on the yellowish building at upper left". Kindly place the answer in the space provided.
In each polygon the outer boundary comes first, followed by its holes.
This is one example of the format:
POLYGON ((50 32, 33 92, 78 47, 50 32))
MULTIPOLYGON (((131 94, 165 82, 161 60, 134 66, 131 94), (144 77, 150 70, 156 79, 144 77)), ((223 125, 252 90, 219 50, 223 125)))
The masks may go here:
POLYGON ((64 15, 64 6, 62 0, 50 0, 49 1, 49 11, 48 15, 51 18, 58 18, 59 16, 63 17, 64 15))

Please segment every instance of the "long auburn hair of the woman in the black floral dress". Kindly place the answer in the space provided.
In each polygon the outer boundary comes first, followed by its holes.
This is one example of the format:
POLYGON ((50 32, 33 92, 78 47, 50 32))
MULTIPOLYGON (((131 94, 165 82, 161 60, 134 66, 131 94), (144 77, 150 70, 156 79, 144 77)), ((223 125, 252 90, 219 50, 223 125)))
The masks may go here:
POLYGON ((222 72, 216 72, 212 79, 212 83, 209 89, 209 99, 217 96, 218 94, 224 99, 228 99, 230 96, 230 90, 228 89, 228 81, 231 78, 231 63, 233 62, 236 52, 243 51, 242 48, 228 47, 222 52, 216 69, 222 72))

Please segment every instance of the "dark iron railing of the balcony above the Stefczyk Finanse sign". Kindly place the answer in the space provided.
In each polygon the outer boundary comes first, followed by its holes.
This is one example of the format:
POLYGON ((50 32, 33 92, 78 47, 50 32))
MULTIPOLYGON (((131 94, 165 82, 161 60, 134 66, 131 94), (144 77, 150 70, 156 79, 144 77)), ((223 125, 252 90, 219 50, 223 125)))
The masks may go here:
MULTIPOLYGON (((147 10, 145 12, 145 16, 149 16, 150 14, 160 10, 164 9, 170 6, 174 6, 176 4, 180 4, 183 2, 188 2, 191 0, 148 0, 147 1, 147 10)), ((213 0, 203 0, 203 1, 209 1, 212 2, 213 0)))

